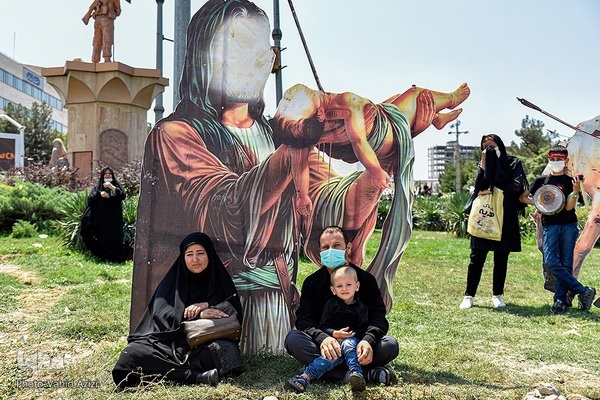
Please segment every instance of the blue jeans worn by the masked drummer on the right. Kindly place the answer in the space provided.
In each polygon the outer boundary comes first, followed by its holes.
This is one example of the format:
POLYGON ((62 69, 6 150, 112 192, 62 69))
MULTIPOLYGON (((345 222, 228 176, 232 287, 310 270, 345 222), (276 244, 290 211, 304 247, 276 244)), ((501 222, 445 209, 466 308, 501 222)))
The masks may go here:
POLYGON ((567 292, 580 294, 585 287, 573 276, 573 251, 579 230, 577 223, 544 227, 544 267, 556 277, 554 301, 567 301, 567 292))

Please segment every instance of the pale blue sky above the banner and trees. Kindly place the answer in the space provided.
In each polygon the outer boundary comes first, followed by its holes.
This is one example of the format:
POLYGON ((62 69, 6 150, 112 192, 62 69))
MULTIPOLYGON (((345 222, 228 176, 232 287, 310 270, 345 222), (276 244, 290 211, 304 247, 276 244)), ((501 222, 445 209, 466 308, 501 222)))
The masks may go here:
MULTIPOLYGON (((257 0, 273 24, 273 4, 257 0)), ((90 1, 0 0, 0 51, 20 63, 64 66, 90 61, 93 24, 81 18, 90 1)), ((192 15, 205 3, 191 1, 192 15)), ((296 15, 324 90, 354 92, 374 102, 411 85, 450 92, 471 88, 459 116, 464 145, 496 133, 517 141, 526 115, 567 139, 574 130, 523 106, 525 98, 572 125, 600 114, 600 1, 597 0, 296 0, 296 15)), ((114 61, 156 67, 157 5, 121 0, 114 61)), ((288 1, 279 0, 283 89, 317 88, 288 1)), ((174 1, 163 5, 164 36, 173 39, 174 1)), ((165 116, 173 109, 173 43, 163 42, 165 116)), ((275 79, 265 88, 276 110, 275 79)), ((149 122, 154 122, 150 110, 149 122)), ((415 139, 415 179, 427 178, 427 149, 456 138, 428 128, 415 139)))

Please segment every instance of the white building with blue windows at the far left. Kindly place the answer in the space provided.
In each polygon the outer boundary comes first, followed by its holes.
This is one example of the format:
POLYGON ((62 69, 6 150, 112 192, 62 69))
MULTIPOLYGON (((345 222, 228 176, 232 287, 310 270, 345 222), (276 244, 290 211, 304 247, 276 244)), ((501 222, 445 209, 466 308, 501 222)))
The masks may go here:
POLYGON ((63 107, 58 92, 46 84, 41 69, 20 64, 0 52, 0 110, 4 110, 8 103, 21 104, 31 110, 34 102, 46 102, 52 107, 52 129, 66 134, 68 111, 63 107))

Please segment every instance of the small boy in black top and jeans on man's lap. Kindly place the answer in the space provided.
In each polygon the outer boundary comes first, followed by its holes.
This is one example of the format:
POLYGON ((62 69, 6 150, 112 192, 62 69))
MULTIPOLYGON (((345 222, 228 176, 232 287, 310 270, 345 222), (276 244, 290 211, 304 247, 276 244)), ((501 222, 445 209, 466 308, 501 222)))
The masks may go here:
POLYGON ((365 378, 362 366, 358 363, 356 346, 365 334, 369 317, 367 307, 356 295, 359 287, 360 282, 352 267, 342 266, 331 273, 331 291, 336 297, 325 304, 321 315, 321 329, 340 342, 343 357, 335 360, 316 358, 301 375, 288 381, 295 391, 304 392, 310 382, 344 361, 348 366, 352 390, 365 390, 365 378))

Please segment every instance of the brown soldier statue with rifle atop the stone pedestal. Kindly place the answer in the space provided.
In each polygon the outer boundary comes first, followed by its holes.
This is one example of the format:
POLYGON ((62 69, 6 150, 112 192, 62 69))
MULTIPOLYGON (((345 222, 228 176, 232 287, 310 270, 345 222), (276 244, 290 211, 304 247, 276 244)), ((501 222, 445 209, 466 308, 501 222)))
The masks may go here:
POLYGON ((110 62, 114 42, 115 19, 121 15, 120 0, 94 0, 83 16, 84 24, 94 18, 94 40, 92 42, 92 62, 100 62, 100 52, 104 62, 110 62))

